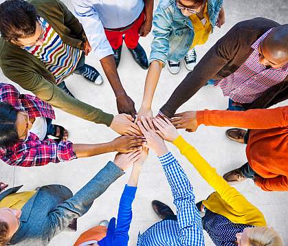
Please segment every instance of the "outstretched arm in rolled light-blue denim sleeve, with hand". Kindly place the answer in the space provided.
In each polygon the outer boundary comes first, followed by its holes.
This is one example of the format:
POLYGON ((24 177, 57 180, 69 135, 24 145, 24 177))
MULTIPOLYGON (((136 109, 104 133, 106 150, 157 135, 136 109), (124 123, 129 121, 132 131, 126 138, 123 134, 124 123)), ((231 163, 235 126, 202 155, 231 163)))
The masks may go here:
POLYGON ((157 83, 166 63, 166 58, 169 52, 169 35, 171 25, 169 20, 171 17, 159 5, 153 17, 153 41, 151 43, 151 54, 149 58, 149 68, 145 80, 144 95, 140 111, 137 119, 141 116, 152 117, 151 104, 157 83))

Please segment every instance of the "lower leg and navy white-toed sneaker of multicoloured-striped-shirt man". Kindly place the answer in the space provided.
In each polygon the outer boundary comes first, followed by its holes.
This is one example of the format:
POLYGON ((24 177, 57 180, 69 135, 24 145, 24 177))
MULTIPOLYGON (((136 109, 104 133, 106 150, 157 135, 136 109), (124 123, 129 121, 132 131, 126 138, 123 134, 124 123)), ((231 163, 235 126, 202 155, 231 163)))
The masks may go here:
POLYGON ((95 85, 101 85, 103 82, 102 76, 100 76, 97 69, 94 67, 85 64, 85 54, 82 52, 81 58, 77 63, 76 69, 74 70, 75 74, 80 74, 90 82, 93 82, 95 85))

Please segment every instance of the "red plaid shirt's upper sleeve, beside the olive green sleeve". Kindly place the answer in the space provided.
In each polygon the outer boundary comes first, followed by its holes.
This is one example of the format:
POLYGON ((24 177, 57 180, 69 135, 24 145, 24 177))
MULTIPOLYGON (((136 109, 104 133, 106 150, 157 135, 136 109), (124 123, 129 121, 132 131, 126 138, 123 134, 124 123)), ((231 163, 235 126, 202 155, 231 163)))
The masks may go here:
POLYGON ((0 83, 0 102, 7 102, 20 111, 27 111, 30 118, 45 117, 55 119, 54 110, 50 104, 36 98, 36 96, 20 94, 10 84, 0 83))

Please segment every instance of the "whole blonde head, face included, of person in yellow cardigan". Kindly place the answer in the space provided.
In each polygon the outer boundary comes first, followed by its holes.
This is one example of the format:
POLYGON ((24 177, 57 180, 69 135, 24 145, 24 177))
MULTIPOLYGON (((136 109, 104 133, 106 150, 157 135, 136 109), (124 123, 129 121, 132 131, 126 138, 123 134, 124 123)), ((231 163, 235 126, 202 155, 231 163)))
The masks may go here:
POLYGON ((250 227, 245 228, 242 233, 237 233, 239 246, 283 246, 283 241, 272 228, 250 227))

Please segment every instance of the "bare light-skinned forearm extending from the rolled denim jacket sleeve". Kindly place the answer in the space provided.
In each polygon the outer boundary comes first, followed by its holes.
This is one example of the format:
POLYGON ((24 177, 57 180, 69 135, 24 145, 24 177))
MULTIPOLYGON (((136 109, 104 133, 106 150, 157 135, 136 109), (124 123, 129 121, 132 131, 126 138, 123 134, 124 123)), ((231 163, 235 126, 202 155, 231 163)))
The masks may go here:
POLYGON ((145 80, 144 95, 142 100, 142 108, 144 109, 151 109, 153 96, 159 81, 162 67, 162 62, 158 60, 154 60, 149 66, 145 80))

